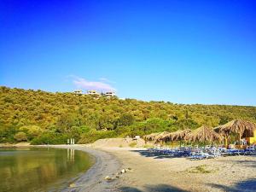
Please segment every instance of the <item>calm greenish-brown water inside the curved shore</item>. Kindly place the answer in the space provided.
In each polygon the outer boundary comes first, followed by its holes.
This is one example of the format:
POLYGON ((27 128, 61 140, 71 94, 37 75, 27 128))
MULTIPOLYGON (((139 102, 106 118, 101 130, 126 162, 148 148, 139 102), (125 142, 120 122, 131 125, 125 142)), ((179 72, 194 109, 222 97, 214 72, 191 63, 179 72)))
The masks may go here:
POLYGON ((92 166, 89 154, 61 148, 0 149, 0 191, 59 191, 92 166))

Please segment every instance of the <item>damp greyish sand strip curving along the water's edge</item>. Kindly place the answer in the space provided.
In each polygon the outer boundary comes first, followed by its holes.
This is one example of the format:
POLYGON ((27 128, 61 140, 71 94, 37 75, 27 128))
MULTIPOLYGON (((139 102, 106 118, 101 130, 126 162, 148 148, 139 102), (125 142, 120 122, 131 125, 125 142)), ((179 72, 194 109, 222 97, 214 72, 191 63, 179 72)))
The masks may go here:
POLYGON ((117 192, 119 191, 119 178, 106 180, 105 177, 113 177, 121 170, 120 161, 111 153, 101 148, 90 148, 86 145, 19 145, 0 144, 0 148, 71 148, 90 154, 95 160, 94 164, 86 172, 81 172, 78 177, 67 180, 70 186, 61 189, 63 192, 117 192))

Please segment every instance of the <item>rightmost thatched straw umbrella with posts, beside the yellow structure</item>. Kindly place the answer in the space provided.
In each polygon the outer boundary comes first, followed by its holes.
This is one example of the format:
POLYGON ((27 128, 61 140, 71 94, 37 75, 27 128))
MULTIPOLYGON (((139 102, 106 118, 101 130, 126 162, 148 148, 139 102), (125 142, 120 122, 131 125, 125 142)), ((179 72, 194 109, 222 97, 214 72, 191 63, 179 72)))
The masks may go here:
POLYGON ((225 125, 220 125, 214 128, 219 134, 225 137, 225 145, 227 147, 227 138, 230 133, 239 134, 239 143, 242 135, 252 135, 253 131, 256 130, 256 124, 249 122, 247 120, 235 119, 228 122, 225 125))

